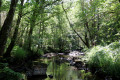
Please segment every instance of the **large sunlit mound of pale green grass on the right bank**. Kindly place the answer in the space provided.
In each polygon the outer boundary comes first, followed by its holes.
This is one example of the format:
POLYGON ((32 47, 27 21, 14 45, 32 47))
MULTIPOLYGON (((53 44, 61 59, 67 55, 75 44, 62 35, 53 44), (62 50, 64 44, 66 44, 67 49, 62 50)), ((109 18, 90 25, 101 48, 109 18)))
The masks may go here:
POLYGON ((89 68, 100 76, 120 79, 120 43, 96 46, 87 52, 89 68))

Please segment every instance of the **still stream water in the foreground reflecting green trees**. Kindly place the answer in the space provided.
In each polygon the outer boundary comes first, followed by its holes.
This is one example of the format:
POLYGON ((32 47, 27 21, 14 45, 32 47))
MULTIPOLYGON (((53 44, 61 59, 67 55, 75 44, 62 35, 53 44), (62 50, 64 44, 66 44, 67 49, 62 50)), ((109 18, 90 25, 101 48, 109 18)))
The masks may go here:
POLYGON ((47 64, 47 77, 34 76, 28 80, 102 80, 90 72, 85 73, 84 70, 77 70, 74 66, 69 66, 68 63, 57 63, 53 59, 47 64))

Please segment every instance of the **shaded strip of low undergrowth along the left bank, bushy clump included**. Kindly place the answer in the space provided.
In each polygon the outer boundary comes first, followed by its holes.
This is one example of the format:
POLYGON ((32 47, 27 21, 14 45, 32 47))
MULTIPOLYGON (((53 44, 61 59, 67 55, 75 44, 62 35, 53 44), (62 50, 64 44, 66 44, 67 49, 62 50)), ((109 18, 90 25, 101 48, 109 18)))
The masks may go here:
MULTIPOLYGON (((13 58, 13 62, 17 62, 17 63, 21 63, 21 62, 25 62, 25 60, 29 61, 30 59, 37 59, 41 56, 41 54, 44 54, 42 50, 38 50, 37 53, 35 51, 28 51, 25 50, 22 47, 19 46, 15 46, 12 50, 12 58, 13 58)), ((16 63, 16 64, 17 64, 16 63)))

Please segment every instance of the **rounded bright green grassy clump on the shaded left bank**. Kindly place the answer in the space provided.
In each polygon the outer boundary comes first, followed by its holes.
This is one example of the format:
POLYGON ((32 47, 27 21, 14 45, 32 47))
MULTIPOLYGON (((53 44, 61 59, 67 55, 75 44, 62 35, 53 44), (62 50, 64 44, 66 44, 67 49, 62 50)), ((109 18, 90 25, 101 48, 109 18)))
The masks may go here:
POLYGON ((19 46, 15 46, 12 50, 12 56, 17 60, 24 60, 27 57, 27 51, 19 46))

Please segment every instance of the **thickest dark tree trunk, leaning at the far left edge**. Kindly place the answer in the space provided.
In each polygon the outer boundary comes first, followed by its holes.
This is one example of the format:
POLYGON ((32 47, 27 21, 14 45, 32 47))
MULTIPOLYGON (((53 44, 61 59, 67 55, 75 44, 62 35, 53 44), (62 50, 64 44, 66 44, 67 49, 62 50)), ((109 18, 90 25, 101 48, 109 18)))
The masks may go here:
POLYGON ((6 45, 8 34, 9 34, 11 24, 13 21, 17 2, 18 0, 11 0, 10 10, 8 12, 8 15, 0 31, 0 56, 3 55, 4 50, 5 50, 5 45, 6 45))

